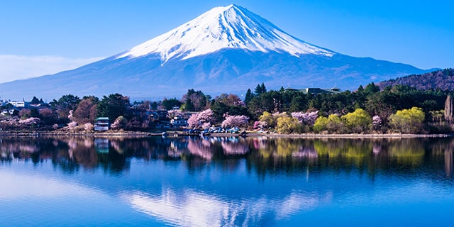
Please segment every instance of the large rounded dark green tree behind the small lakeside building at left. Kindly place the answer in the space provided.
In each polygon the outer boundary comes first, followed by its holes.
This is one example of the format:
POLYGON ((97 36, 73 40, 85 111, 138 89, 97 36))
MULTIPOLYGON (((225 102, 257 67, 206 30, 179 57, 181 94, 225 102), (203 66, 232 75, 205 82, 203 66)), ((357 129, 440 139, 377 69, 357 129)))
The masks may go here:
POLYGON ((129 106, 131 106, 129 98, 116 93, 103 96, 96 109, 98 116, 109 117, 112 121, 118 116, 127 116, 129 106))

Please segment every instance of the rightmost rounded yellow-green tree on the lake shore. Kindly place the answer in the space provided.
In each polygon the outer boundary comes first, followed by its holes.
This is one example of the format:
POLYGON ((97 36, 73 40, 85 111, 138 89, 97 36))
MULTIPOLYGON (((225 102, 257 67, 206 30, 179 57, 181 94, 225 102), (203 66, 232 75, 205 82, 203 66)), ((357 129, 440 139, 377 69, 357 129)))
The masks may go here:
POLYGON ((419 107, 403 109, 389 116, 389 126, 400 133, 420 133, 423 131, 425 114, 419 107))

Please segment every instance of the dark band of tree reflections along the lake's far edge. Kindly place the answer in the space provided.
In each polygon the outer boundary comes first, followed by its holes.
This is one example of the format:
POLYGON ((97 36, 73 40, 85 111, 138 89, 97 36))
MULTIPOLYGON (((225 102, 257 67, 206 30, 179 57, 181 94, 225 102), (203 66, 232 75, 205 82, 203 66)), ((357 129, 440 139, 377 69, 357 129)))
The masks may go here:
MULTIPOLYGON (((211 163, 230 169, 245 160, 260 175, 339 169, 408 172, 416 168, 453 172, 453 138, 1 138, 1 162, 51 160, 65 172, 128 170, 131 159, 211 163)), ((411 171, 410 171, 411 172, 411 171)), ((414 172, 415 173, 415 172, 414 172)), ((415 173, 416 174, 416 173, 415 173)))

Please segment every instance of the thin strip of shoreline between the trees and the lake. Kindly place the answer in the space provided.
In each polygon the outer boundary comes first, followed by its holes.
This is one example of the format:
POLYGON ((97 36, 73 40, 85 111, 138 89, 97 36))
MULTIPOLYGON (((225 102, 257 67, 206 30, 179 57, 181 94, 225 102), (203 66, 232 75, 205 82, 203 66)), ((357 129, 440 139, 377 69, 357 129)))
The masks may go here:
MULTIPOLYGON (((11 132, 1 131, 2 137, 38 137, 38 136, 92 136, 92 137, 154 137, 162 136, 162 132, 136 132, 136 131, 108 131, 108 132, 89 132, 89 133, 71 133, 64 131, 49 132, 49 131, 24 131, 11 132)), ((167 138, 183 137, 183 136, 199 136, 187 135, 181 131, 167 131, 167 138)), ((240 137, 238 133, 211 133, 204 137, 240 137)), ((450 138, 454 134, 267 134, 248 132, 245 137, 267 137, 267 138, 450 138)))

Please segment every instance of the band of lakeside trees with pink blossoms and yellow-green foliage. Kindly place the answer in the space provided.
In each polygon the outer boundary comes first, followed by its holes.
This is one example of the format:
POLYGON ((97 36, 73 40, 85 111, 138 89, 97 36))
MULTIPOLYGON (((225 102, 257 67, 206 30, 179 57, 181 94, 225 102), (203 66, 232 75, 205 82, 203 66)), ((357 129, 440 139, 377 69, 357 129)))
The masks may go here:
POLYGON ((189 128, 240 127, 258 133, 451 133, 452 95, 450 90, 424 91, 406 85, 381 90, 373 83, 336 94, 304 94, 284 88, 267 91, 262 83, 254 92, 248 89, 245 99, 236 94, 212 98, 194 89, 181 99, 133 103, 122 94, 102 99, 67 94, 49 104, 33 97, 28 108, 3 116, 0 128, 92 132, 95 118, 104 116, 111 119, 114 131, 152 131, 171 127, 172 119, 179 119, 187 121, 189 128))

